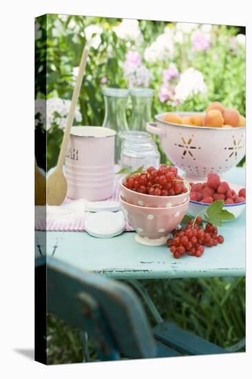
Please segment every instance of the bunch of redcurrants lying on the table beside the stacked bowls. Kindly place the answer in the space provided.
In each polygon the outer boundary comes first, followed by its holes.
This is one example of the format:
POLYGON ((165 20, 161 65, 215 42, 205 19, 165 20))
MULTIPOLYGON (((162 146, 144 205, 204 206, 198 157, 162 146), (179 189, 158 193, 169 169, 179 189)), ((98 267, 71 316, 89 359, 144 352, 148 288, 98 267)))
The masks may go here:
POLYGON ((205 247, 213 247, 224 242, 223 236, 218 236, 218 228, 210 223, 203 228, 202 218, 196 217, 195 222, 189 221, 184 230, 174 230, 174 238, 167 240, 167 246, 174 258, 180 258, 184 254, 200 257, 205 247))

